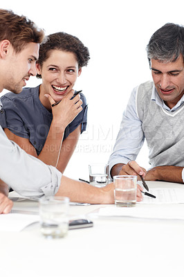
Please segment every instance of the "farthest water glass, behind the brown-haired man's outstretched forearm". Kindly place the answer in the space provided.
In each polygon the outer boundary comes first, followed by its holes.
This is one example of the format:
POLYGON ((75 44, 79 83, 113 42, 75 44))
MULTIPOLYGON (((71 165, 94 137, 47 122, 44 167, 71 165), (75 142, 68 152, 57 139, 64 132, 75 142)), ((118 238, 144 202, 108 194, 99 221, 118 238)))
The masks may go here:
POLYGON ((89 165, 89 183, 98 188, 107 186, 109 184, 109 165, 103 163, 89 165))

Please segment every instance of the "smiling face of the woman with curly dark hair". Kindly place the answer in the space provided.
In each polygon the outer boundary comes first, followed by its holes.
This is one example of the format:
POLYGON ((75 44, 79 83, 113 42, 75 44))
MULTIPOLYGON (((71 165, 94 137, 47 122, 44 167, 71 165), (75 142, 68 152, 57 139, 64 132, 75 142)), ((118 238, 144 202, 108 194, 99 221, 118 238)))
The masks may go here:
POLYGON ((42 67, 37 64, 37 71, 42 75, 41 98, 47 93, 55 102, 62 100, 73 89, 81 73, 75 54, 62 50, 50 50, 42 67))

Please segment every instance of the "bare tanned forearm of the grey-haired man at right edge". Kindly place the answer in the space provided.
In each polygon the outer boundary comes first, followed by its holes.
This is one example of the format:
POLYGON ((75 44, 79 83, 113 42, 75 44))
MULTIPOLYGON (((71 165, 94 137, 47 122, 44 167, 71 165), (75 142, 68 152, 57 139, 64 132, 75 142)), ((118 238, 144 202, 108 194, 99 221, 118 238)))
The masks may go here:
POLYGON ((183 183, 182 171, 183 168, 180 166, 157 166, 147 171, 145 180, 183 183))

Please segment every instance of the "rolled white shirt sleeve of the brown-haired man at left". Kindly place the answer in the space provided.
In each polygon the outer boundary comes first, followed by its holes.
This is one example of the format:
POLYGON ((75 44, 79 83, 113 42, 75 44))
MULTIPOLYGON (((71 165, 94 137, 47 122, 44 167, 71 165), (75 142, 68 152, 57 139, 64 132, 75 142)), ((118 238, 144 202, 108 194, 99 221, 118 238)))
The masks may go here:
POLYGON ((62 173, 27 154, 8 140, 0 127, 0 178, 20 195, 42 197, 55 195, 62 173))

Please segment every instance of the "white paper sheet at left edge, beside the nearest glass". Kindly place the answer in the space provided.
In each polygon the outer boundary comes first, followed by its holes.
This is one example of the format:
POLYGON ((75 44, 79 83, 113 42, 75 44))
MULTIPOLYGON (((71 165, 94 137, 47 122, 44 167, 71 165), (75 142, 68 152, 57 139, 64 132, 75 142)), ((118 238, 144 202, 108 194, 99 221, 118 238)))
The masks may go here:
POLYGON ((1 214, 0 231, 20 232, 34 222, 39 222, 39 215, 23 215, 20 213, 1 214))

